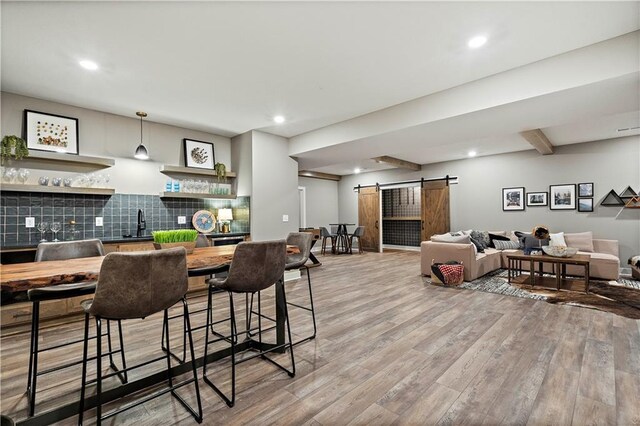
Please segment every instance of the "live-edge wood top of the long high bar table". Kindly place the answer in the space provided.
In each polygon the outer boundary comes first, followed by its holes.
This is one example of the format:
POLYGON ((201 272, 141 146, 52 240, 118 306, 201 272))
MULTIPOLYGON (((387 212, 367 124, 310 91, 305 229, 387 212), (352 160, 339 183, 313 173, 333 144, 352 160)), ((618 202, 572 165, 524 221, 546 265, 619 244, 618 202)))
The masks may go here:
MULTIPOLYGON (((187 268, 222 266, 231 263, 235 245, 202 247, 187 255, 187 268)), ((295 246, 287 246, 287 253, 298 253, 295 246)), ((31 288, 98 279, 104 256, 80 259, 29 262, 2 265, 0 289, 3 293, 27 291, 31 288)))

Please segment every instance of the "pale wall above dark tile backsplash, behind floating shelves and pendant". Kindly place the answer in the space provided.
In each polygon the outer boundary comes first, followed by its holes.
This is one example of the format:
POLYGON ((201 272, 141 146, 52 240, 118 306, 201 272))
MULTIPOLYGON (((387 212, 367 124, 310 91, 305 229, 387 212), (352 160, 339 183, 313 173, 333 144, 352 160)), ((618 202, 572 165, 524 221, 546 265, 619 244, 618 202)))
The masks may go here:
MULTIPOLYGON (((119 193, 158 194, 162 191, 167 176, 160 173, 160 165, 184 166, 184 138, 213 142, 216 162, 224 163, 230 169, 229 138, 154 123, 153 110, 146 111, 149 119, 145 119, 143 123, 143 140, 151 159, 140 161, 133 158, 135 148, 140 143, 140 119, 135 116, 136 106, 131 107, 131 117, 123 117, 6 92, 2 93, 1 105, 0 132, 3 136, 23 136, 25 109, 77 118, 80 155, 115 158, 115 166, 98 173, 108 173, 111 176, 109 186, 119 193)), ((32 170, 29 183, 36 183, 41 175, 64 177, 77 172, 94 171, 91 168, 43 165, 28 160, 21 162, 18 167, 32 170)))

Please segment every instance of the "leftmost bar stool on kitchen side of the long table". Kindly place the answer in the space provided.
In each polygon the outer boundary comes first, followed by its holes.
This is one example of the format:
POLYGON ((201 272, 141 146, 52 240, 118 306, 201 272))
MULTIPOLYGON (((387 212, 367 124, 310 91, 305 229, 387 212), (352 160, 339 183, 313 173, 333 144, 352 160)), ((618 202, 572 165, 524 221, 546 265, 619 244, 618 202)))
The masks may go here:
MULTIPOLYGON (((55 243, 40 243, 36 249, 36 262, 54 261, 54 260, 67 260, 77 259, 82 257, 92 256, 104 256, 104 247, 102 242, 98 239, 80 240, 80 241, 65 241, 55 243)), ((75 361, 66 362, 54 367, 50 367, 45 370, 39 371, 38 355, 42 352, 47 352, 55 349, 61 349, 63 347, 82 343, 83 339, 75 339, 67 341, 65 343, 48 346, 46 348, 40 348, 39 334, 40 334, 40 302, 49 300, 68 299, 71 297, 85 296, 93 294, 96 288, 95 281, 59 284, 49 287, 33 288, 27 291, 27 298, 31 302, 31 344, 29 350, 29 370, 27 373, 27 400, 28 400, 28 412, 29 416, 35 414, 36 408, 36 393, 38 385, 38 376, 44 374, 54 373, 56 371, 79 365, 82 360, 77 359, 75 361)), ((109 365, 117 372, 120 372, 118 367, 113 361, 113 354, 120 353, 122 367, 126 368, 126 361, 124 357, 124 343, 122 338, 122 327, 118 322, 118 333, 120 337, 120 348, 118 350, 112 349, 111 344, 111 328, 107 323, 107 341, 109 350, 104 355, 109 355, 109 365)), ((92 339, 95 337, 92 337, 92 339)), ((127 382, 127 373, 120 372, 118 375, 122 383, 127 382)))

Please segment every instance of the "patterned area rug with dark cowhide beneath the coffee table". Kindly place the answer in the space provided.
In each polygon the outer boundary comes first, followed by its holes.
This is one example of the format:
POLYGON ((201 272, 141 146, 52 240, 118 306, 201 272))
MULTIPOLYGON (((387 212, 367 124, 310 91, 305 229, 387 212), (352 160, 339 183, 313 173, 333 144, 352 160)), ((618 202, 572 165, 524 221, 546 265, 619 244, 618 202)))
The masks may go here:
MULTIPOLYGON (((425 277, 425 280, 431 283, 429 277, 425 277)), ((640 281, 628 278, 619 278, 617 281, 591 280, 589 294, 586 294, 577 291, 530 289, 526 284, 509 284, 507 270, 498 269, 473 281, 464 282, 457 288, 580 306, 640 319, 640 281)))

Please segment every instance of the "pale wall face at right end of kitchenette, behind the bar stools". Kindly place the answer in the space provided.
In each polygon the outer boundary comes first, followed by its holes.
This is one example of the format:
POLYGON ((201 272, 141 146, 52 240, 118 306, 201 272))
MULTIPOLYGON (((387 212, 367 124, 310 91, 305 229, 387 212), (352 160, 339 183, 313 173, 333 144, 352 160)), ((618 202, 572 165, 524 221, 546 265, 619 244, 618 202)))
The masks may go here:
POLYGON ((259 131, 251 138, 251 238, 285 238, 298 231, 298 163, 289 157, 288 139, 259 131))

